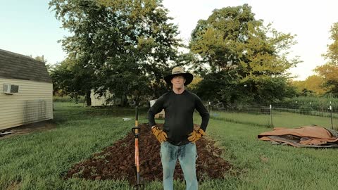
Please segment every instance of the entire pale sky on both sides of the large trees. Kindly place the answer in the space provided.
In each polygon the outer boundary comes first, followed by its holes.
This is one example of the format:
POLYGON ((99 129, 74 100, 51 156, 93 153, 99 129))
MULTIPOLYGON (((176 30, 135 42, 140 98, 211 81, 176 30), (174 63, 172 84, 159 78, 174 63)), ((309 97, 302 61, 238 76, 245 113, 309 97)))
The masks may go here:
MULTIPOLYGON (((47 63, 65 58, 61 43, 69 33, 61 28, 49 0, 0 0, 0 49, 26 56, 44 56, 47 63)), ((206 20, 214 9, 249 4, 256 19, 272 23, 277 31, 296 35, 292 56, 303 63, 292 68, 296 80, 313 75, 313 69, 326 63, 323 53, 330 41, 330 27, 338 22, 337 0, 164 0, 169 15, 180 30, 179 37, 189 37, 199 19, 206 20)))

